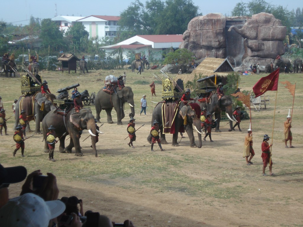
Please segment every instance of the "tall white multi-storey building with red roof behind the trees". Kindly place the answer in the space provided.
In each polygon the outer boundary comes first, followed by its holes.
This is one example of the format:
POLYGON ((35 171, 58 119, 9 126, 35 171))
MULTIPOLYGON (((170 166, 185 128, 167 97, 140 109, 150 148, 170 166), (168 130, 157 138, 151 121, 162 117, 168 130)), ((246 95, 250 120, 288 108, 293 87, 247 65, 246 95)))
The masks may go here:
POLYGON ((106 37, 114 38, 117 35, 119 29, 118 21, 120 17, 118 16, 98 16, 91 15, 88 17, 81 18, 77 20, 82 22, 85 30, 89 33, 89 38, 98 38, 106 37))

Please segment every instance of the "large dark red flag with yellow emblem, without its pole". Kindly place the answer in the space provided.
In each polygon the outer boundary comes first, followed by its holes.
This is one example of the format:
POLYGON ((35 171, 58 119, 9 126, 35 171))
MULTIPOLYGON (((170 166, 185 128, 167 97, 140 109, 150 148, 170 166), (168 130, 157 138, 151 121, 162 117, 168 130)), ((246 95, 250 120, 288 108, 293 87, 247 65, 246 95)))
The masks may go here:
POLYGON ((266 77, 262 77, 255 85, 252 90, 255 93, 255 98, 264 94, 268 90, 278 90, 280 68, 273 71, 266 77))

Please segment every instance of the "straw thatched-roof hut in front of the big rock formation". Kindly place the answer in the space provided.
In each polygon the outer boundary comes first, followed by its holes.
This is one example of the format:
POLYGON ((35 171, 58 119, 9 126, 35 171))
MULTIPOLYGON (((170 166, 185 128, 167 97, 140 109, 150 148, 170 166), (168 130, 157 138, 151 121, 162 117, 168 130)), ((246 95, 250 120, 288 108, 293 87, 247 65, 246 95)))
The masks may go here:
MULTIPOLYGON (((204 58, 204 60, 192 71, 191 74, 180 74, 175 77, 175 80, 182 79, 184 83, 193 81, 195 75, 201 74, 203 77, 216 75, 216 82, 226 84, 226 76, 233 72, 234 68, 231 66, 227 58, 204 58)), ((215 79, 213 80, 215 82, 215 79)))

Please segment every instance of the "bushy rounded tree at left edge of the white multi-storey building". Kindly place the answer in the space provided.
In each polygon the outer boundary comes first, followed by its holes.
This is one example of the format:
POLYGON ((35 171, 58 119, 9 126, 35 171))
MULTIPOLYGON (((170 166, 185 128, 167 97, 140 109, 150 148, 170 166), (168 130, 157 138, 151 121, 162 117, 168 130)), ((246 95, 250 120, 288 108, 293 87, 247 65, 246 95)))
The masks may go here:
POLYGON ((57 23, 50 18, 41 21, 41 32, 39 37, 42 39, 42 45, 45 48, 50 46, 53 51, 58 51, 58 49, 64 45, 63 32, 59 30, 57 23))

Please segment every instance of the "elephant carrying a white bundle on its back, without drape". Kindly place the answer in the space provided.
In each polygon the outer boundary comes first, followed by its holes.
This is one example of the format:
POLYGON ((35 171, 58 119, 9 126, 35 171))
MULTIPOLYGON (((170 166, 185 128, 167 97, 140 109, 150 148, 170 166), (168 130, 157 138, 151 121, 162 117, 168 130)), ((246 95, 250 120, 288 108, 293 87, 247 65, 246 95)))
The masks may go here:
POLYGON ((127 102, 132 111, 132 116, 135 117, 134 107, 134 93, 131 87, 123 87, 122 90, 118 90, 118 86, 115 87, 115 91, 112 94, 108 94, 103 89, 99 90, 95 97, 96 107, 96 119, 100 122, 100 112, 105 110, 107 114, 107 123, 111 124, 112 121, 112 109, 115 108, 117 112, 118 125, 122 124, 124 114, 124 103, 127 102))

